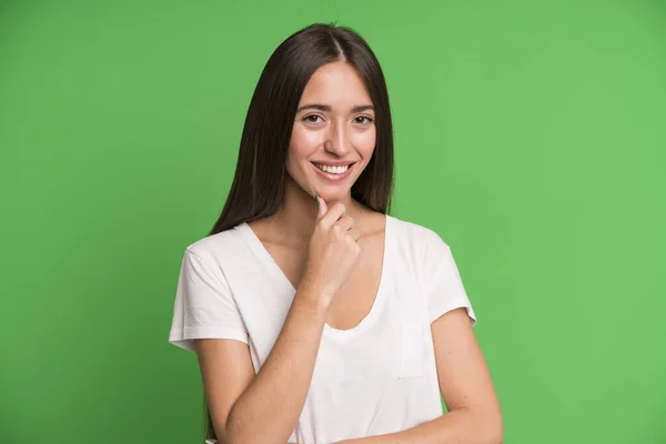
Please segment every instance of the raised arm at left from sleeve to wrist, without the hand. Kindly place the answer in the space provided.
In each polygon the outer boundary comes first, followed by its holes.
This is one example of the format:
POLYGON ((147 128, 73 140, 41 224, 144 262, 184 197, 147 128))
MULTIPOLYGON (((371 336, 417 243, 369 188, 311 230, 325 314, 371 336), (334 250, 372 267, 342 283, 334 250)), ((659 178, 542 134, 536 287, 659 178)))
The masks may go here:
POLYGON ((220 443, 285 443, 307 396, 326 307, 301 285, 275 345, 254 375, 250 349, 198 340, 204 392, 220 443))

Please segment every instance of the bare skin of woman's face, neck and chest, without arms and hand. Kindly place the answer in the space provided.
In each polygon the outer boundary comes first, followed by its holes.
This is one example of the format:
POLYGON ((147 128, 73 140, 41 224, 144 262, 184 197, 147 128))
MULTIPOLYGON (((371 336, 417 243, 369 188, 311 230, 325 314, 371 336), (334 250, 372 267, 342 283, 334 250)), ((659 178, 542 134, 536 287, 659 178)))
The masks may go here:
POLYGON ((283 209, 272 218, 250 224, 297 287, 316 222, 313 195, 319 194, 329 208, 344 205, 345 215, 361 233, 361 258, 350 282, 337 292, 330 307, 327 324, 340 330, 351 329, 365 317, 381 276, 385 216, 351 196, 352 184, 374 152, 374 119, 372 100, 350 64, 321 67, 306 84, 294 120, 283 209), (352 173, 343 182, 322 180, 313 165, 313 162, 340 161, 354 162, 352 173), (359 297, 360 294, 363 296, 359 297))

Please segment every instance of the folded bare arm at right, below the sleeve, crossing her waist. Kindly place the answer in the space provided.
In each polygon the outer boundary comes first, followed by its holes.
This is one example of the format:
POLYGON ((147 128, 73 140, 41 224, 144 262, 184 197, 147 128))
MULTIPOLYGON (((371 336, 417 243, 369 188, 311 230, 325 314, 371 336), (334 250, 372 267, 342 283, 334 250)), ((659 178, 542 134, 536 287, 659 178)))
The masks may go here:
POLYGON ((448 413, 403 432, 344 444, 502 443, 500 403, 465 310, 442 315, 433 322, 432 333, 440 390, 448 413))

